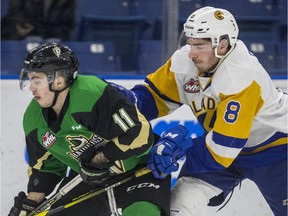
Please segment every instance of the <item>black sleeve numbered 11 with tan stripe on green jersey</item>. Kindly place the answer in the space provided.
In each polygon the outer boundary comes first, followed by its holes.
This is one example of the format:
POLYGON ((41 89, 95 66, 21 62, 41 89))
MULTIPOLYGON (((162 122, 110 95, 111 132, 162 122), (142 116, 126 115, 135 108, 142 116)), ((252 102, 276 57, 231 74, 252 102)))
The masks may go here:
POLYGON ((108 143, 103 153, 110 161, 124 160, 146 153, 153 144, 150 123, 135 104, 107 85, 96 102, 88 125, 108 143))

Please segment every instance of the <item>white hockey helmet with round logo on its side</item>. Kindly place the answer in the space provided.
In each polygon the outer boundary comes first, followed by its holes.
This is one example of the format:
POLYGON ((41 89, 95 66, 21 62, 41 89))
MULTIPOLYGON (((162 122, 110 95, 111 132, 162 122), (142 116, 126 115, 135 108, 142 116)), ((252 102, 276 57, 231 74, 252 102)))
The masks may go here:
POLYGON ((192 38, 211 38, 212 47, 217 47, 222 36, 227 36, 233 47, 239 29, 234 16, 227 10, 203 7, 193 12, 184 23, 184 34, 192 38))

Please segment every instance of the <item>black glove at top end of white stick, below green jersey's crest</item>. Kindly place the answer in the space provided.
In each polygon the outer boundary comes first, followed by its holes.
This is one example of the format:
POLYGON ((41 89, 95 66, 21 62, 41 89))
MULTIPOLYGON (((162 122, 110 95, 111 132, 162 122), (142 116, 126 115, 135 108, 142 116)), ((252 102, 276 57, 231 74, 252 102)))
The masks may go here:
POLYGON ((103 148, 89 148, 80 157, 80 176, 87 184, 102 185, 110 177, 109 168, 114 165, 111 163, 92 164, 91 159, 102 151, 103 148))

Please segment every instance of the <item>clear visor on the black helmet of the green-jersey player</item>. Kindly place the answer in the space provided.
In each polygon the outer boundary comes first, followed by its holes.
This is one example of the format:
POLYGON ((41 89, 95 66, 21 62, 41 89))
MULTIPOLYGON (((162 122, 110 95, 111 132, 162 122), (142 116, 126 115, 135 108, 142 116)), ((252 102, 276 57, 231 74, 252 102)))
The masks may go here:
POLYGON ((30 88, 47 88, 50 83, 54 82, 54 72, 36 72, 23 68, 20 71, 19 87, 20 90, 31 90, 30 88))

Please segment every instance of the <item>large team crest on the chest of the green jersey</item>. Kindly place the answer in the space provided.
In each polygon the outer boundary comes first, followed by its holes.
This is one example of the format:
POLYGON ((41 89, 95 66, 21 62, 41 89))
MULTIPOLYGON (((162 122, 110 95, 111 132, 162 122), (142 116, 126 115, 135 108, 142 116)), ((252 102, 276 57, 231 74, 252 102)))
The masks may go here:
POLYGON ((90 138, 84 136, 67 136, 66 140, 69 142, 71 152, 67 154, 78 160, 82 153, 88 148, 94 148, 95 146, 102 146, 106 144, 106 141, 95 134, 93 134, 90 138))

